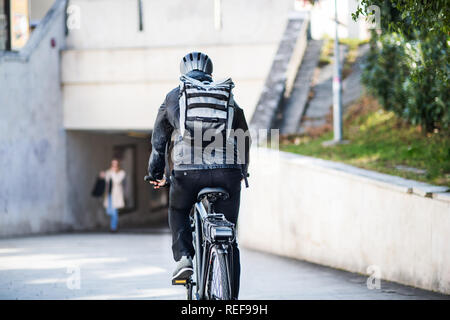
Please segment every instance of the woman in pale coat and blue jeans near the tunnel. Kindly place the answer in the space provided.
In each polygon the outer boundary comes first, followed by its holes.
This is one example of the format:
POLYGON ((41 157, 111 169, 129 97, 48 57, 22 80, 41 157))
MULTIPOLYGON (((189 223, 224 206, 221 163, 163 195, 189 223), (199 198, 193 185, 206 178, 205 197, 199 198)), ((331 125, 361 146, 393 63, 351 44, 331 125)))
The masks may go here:
POLYGON ((119 160, 112 159, 111 167, 100 172, 100 177, 106 181, 103 206, 110 216, 110 231, 116 232, 119 223, 119 209, 125 206, 124 181, 126 173, 120 168, 119 160))

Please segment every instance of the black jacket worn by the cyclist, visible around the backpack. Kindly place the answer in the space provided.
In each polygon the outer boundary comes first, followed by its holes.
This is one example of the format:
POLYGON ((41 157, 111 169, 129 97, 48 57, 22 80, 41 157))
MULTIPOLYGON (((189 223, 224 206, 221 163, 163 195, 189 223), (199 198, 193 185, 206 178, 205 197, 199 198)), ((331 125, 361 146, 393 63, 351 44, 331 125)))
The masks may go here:
MULTIPOLYGON (((202 72, 191 72, 190 77, 200 81, 209 80, 211 77, 202 72)), ((154 179, 162 179, 166 168, 166 153, 170 149, 171 136, 175 129, 179 129, 180 107, 179 101, 180 89, 176 87, 167 95, 158 110, 155 125, 152 133, 152 153, 148 161, 148 174, 154 179)), ((242 129, 248 132, 247 121, 244 116, 244 111, 234 101, 234 117, 232 129, 242 129)), ((247 174, 249 165, 249 149, 251 139, 250 135, 245 141, 245 163, 239 165, 244 175, 247 174)), ((211 169, 210 165, 200 165, 199 169, 211 169)))

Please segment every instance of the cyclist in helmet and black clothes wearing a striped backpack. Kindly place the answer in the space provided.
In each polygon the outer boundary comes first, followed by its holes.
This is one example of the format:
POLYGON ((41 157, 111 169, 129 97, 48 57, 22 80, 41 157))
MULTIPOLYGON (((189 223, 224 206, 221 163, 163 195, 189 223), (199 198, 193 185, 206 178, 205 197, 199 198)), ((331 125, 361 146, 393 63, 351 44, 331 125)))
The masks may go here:
MULTIPOLYGON (((212 71, 212 61, 204 53, 192 52, 183 57, 181 84, 166 95, 151 138, 152 153, 148 163, 151 183, 154 188, 160 188, 170 179, 169 227, 173 257, 178 262, 172 280, 187 279, 193 273, 195 252, 189 214, 198 192, 204 187, 225 188, 230 197, 218 200, 215 211, 236 224, 241 181, 247 177, 251 139, 244 112, 233 98, 231 79, 213 82, 212 71), (210 90, 207 93, 195 91, 202 85, 210 85, 210 90), (221 94, 228 98, 224 99, 221 94), (202 135, 205 129, 212 128, 214 138, 208 139, 205 134, 197 139, 199 131, 194 132, 192 128, 199 126, 202 135), (239 139, 230 132, 244 133, 245 138, 239 139), (193 137, 187 137, 189 133, 193 133, 193 137), (219 139, 221 137, 223 139, 219 139), (168 171, 166 155, 170 149, 173 169, 168 171)), ((240 262, 236 242, 233 245, 233 273, 232 296, 237 299, 240 262)))

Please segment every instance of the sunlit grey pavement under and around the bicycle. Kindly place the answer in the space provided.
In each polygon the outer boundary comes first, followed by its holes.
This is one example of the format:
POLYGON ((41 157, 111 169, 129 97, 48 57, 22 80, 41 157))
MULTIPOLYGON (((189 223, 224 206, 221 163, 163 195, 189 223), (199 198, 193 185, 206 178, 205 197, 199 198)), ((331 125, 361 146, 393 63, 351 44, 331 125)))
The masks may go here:
MULTIPOLYGON (((165 229, 1 239, 0 299, 184 299, 170 285, 170 245, 165 229)), ((241 299, 450 299, 386 281, 369 290, 364 276, 247 249, 241 257, 241 299)))

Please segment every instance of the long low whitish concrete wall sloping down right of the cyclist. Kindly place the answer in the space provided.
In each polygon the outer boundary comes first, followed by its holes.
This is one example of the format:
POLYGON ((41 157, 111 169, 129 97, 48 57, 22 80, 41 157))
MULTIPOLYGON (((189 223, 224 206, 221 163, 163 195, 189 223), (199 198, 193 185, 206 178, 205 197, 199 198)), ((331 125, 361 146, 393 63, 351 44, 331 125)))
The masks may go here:
POLYGON ((447 188, 265 149, 251 159, 241 245, 450 293, 447 188))

